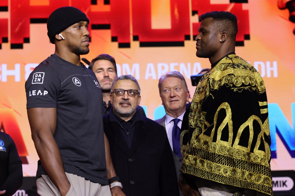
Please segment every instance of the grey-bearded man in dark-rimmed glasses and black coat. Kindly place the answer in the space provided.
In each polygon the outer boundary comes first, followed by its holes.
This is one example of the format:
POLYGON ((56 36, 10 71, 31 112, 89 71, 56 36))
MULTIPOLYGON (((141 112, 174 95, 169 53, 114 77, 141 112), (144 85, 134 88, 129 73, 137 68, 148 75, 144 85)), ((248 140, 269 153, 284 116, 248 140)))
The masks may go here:
POLYGON ((165 129, 141 115, 136 109, 140 100, 140 86, 133 76, 114 80, 104 132, 122 190, 127 196, 179 195, 165 129))

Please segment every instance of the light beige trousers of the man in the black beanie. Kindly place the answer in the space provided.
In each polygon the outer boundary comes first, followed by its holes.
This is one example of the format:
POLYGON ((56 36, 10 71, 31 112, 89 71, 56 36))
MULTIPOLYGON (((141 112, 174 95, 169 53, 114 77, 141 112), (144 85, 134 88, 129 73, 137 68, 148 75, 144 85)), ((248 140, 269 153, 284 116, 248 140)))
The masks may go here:
MULTIPOLYGON (((66 196, 111 196, 110 187, 101 186, 99 183, 93 183, 81 176, 65 172, 71 187, 66 196)), ((36 180, 37 193, 41 196, 61 196, 58 188, 53 184, 48 175, 36 180)))

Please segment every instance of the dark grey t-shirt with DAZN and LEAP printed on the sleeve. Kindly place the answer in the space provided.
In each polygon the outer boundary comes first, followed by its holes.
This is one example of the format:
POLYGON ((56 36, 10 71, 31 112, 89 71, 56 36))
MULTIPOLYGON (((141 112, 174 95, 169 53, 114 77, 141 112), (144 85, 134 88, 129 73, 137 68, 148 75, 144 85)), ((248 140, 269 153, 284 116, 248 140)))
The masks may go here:
MULTIPOLYGON (((108 184, 102 123, 102 92, 93 71, 53 54, 26 81, 27 108, 56 107, 54 139, 65 172, 108 184)), ((38 161, 37 178, 46 174, 38 161)))

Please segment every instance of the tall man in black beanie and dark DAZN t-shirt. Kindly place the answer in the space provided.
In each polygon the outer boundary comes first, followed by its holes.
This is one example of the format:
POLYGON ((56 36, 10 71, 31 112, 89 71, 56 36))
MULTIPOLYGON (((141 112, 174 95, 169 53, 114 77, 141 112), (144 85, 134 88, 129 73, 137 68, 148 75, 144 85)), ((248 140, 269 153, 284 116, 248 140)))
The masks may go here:
POLYGON ((88 23, 77 8, 53 11, 47 35, 55 52, 26 81, 39 195, 111 195, 109 183, 113 195, 124 195, 102 126, 102 92, 80 61, 89 53, 88 23))

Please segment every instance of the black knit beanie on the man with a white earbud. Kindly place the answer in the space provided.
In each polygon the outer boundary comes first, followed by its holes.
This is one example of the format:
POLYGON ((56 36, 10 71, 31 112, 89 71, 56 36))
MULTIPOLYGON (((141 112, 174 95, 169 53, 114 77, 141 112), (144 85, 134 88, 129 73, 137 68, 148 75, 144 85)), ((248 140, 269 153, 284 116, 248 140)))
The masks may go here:
POLYGON ((89 19, 86 14, 75 7, 61 7, 53 11, 47 20, 47 35, 51 43, 54 43, 55 35, 69 26, 89 19))

